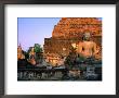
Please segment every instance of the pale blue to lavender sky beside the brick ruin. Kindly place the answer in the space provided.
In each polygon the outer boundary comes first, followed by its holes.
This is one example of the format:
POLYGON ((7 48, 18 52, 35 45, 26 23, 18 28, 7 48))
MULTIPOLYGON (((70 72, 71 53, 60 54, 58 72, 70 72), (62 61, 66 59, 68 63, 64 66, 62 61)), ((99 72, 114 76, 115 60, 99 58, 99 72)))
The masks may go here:
MULTIPOLYGON (((60 22, 61 17, 18 17, 17 32, 18 41, 22 49, 27 51, 35 44, 43 47, 44 38, 52 37, 54 25, 60 22)), ((101 17, 98 20, 102 20, 101 17)))

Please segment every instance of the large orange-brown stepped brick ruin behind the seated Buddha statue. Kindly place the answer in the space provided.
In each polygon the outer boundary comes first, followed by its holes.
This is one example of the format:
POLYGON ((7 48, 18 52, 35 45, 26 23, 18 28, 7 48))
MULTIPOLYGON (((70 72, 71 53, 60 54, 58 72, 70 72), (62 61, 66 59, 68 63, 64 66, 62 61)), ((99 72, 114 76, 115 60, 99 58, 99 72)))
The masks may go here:
MULTIPOLYGON (((82 40, 82 35, 90 32, 92 40, 100 48, 102 57, 102 21, 96 17, 63 17, 54 26, 51 38, 44 38, 44 56, 68 56, 71 44, 82 40)), ((52 57, 52 58, 53 58, 52 57)))

